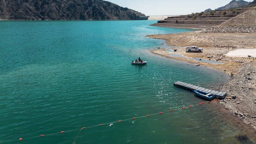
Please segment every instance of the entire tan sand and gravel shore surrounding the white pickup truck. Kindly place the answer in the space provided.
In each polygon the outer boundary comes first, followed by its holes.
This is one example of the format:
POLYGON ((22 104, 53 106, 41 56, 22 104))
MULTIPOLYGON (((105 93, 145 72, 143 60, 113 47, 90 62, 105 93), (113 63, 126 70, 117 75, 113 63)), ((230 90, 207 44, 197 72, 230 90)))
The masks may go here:
MULTIPOLYGON (((177 49, 176 52, 166 51, 164 48, 150 50, 152 54, 179 60, 191 65, 207 66, 230 76, 230 81, 223 84, 220 91, 227 92, 222 100, 212 100, 211 107, 218 111, 230 124, 244 131, 255 139, 256 137, 256 60, 226 56, 230 51, 237 49, 256 49, 256 33, 200 33, 201 30, 164 35, 148 35, 150 38, 163 39, 168 49, 177 49), (198 46, 203 52, 186 52, 187 46, 198 46), (171 54, 178 54, 174 57, 171 54), (187 58, 185 58, 187 57, 187 58), (211 64, 189 58, 199 58, 209 61, 223 62, 211 64), (221 59, 230 59, 224 61, 221 59), (243 63, 234 61, 244 60, 243 63)), ((248 51, 249 52, 249 51, 248 51)), ((237 53, 236 53, 237 54, 237 53)), ((245 53, 247 54, 247 53, 245 53)), ((255 53, 252 53, 255 55, 255 53)), ((251 55, 252 55, 251 54, 251 55)), ((250 57, 251 58, 251 57, 250 57)))

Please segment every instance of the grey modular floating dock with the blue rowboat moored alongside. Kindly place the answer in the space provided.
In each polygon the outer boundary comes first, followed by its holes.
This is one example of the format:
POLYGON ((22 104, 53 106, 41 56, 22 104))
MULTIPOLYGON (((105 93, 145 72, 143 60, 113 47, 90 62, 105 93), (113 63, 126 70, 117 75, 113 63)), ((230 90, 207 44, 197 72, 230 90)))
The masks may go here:
POLYGON ((225 92, 210 90, 210 89, 207 89, 207 88, 203 88, 203 87, 200 87, 200 86, 192 85, 192 84, 181 82, 181 81, 174 82, 174 85, 178 86, 178 87, 181 87, 181 88, 184 88, 184 89, 188 89, 190 91, 199 90, 199 91, 202 91, 202 92, 205 92, 205 93, 210 93, 210 94, 212 94, 216 97, 219 97, 219 99, 224 99, 227 96, 227 93, 225 93, 225 92))

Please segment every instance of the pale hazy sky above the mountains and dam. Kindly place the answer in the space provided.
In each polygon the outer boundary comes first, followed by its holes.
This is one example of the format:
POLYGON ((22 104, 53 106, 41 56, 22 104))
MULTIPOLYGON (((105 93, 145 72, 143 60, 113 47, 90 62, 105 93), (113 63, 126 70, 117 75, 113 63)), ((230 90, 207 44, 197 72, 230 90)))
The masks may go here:
MULTIPOLYGON (((232 0, 105 0, 121 7, 136 10, 146 16, 186 15, 217 9, 232 0)), ((253 0, 245 0, 252 2, 253 0)))

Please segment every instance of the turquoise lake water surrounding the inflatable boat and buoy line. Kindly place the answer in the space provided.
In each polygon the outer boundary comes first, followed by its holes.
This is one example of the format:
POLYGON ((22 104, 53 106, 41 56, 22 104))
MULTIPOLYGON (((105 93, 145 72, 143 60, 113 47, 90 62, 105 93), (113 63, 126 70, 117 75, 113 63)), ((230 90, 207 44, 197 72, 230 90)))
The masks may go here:
POLYGON ((216 90, 229 77, 150 54, 166 45, 145 35, 191 31, 156 22, 0 21, 0 141, 242 143, 206 100, 173 86, 216 90), (131 65, 138 57, 148 63, 131 65))

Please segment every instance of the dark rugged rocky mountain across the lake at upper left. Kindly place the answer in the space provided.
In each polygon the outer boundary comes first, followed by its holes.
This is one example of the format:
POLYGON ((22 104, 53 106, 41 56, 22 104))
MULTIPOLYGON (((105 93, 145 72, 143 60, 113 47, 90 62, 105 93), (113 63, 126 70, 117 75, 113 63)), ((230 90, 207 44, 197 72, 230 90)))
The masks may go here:
POLYGON ((103 0, 0 0, 2 20, 137 20, 144 14, 103 0))

